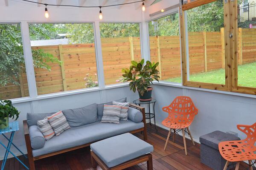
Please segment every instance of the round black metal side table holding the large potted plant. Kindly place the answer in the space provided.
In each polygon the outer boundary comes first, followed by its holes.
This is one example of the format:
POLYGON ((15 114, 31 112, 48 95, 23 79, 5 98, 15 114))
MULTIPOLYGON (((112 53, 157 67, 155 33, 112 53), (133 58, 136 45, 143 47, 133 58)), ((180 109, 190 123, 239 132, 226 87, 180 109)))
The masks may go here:
POLYGON ((156 127, 156 119, 155 119, 155 112, 154 112, 154 105, 155 103, 157 102, 156 99, 152 99, 150 101, 140 101, 139 99, 137 100, 134 100, 133 103, 135 105, 147 105, 148 106, 148 113, 145 113, 145 117, 146 119, 149 119, 149 123, 151 125, 151 119, 154 118, 154 127, 155 129, 157 130, 157 127, 156 127), (150 104, 153 104, 153 112, 151 113, 150 111, 150 104))

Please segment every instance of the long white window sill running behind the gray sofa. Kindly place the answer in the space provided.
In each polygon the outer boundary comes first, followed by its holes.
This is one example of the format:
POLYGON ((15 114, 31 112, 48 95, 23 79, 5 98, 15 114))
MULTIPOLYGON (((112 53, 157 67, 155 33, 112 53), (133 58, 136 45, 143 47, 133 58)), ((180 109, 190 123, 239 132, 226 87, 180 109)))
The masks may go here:
POLYGON ((116 84, 116 85, 107 85, 105 87, 86 88, 86 89, 75 90, 75 91, 65 91, 65 92, 54 93, 54 94, 44 94, 36 97, 23 97, 23 98, 10 99, 10 100, 12 100, 13 104, 17 104, 17 103, 23 103, 23 102, 36 101, 36 100, 50 99, 50 98, 61 97, 61 96, 69 96, 74 94, 89 93, 93 91, 108 90, 112 88, 121 88, 121 87, 126 87, 128 85, 129 83, 122 83, 122 84, 116 84))

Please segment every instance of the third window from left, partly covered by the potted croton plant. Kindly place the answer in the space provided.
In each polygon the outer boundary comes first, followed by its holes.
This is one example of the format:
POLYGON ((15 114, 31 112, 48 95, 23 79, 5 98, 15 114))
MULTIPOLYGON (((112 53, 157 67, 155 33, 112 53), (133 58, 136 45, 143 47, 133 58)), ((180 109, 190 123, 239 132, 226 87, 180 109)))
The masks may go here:
POLYGON ((105 85, 124 82, 122 68, 141 60, 139 23, 100 23, 105 85))

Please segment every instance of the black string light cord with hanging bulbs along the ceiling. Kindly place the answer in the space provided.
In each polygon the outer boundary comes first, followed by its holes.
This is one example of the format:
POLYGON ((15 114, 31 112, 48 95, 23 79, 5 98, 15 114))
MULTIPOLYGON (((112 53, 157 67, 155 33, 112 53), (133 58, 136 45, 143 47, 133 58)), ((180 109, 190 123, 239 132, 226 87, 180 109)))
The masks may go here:
POLYGON ((40 2, 31 1, 31 0, 22 0, 22 1, 26 1, 26 2, 29 2, 29 3, 36 3, 36 4, 45 5, 45 10, 44 10, 44 11, 45 11, 45 13, 44 13, 44 17, 45 17, 45 18, 49 18, 49 13, 48 13, 47 6, 69 6, 69 7, 79 7, 79 8, 100 8, 100 10, 99 10, 99 19, 100 19, 100 20, 102 20, 102 18, 103 18, 103 16, 102 16, 102 11, 101 11, 101 8, 103 8, 103 7, 121 6, 121 5, 128 5, 128 4, 132 4, 132 3, 143 2, 143 3, 142 3, 142 10, 145 11, 145 4, 144 4, 144 1, 145 1, 145 0, 139 0, 139 1, 130 2, 130 3, 121 3, 121 4, 115 4, 115 5, 108 5, 108 6, 57 5, 57 4, 40 3, 40 2))

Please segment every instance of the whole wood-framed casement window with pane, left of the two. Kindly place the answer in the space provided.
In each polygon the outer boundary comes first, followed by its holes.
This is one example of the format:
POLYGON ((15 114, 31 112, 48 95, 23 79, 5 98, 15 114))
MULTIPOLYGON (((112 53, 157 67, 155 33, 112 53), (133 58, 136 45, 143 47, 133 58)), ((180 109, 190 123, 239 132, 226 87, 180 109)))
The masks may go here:
POLYGON ((195 0, 180 9, 183 85, 231 90, 230 3, 195 0))

